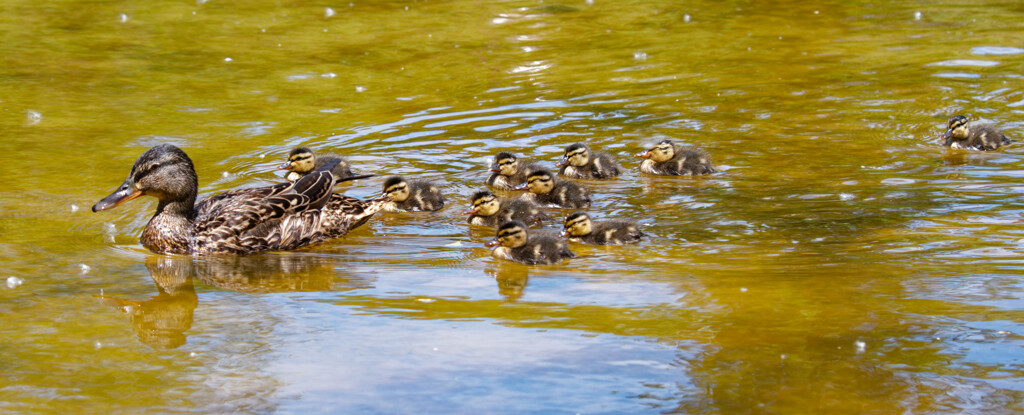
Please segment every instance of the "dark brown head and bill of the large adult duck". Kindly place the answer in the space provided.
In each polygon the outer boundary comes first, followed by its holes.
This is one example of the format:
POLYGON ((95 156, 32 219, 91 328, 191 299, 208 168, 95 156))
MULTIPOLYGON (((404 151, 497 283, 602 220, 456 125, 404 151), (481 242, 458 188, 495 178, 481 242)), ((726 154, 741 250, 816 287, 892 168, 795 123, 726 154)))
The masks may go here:
POLYGON ((161 204, 196 202, 199 179, 191 160, 171 144, 160 144, 146 150, 131 167, 131 173, 118 190, 92 206, 93 212, 113 209, 139 196, 153 196, 161 204))

